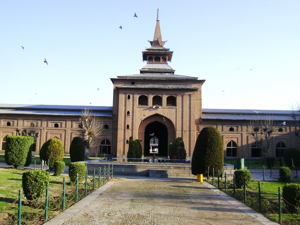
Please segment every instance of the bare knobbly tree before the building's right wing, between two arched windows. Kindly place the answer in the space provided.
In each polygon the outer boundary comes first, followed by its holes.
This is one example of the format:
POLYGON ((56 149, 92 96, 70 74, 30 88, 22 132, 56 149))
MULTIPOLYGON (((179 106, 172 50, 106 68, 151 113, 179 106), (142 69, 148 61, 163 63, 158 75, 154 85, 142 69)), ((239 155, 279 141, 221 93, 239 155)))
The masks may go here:
POLYGON ((276 130, 274 121, 266 116, 262 119, 262 116, 250 121, 248 125, 248 131, 254 137, 255 142, 259 149, 263 152, 263 158, 268 156, 268 148, 271 144, 271 134, 276 130))

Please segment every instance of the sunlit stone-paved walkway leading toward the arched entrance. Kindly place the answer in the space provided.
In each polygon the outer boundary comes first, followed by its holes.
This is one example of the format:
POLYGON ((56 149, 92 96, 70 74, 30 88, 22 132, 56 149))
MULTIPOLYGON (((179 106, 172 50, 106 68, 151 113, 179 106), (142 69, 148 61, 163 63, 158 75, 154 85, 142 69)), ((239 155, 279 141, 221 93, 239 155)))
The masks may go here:
POLYGON ((110 179, 110 182, 45 223, 58 224, 277 223, 212 185, 196 182, 196 179, 119 177, 110 179))

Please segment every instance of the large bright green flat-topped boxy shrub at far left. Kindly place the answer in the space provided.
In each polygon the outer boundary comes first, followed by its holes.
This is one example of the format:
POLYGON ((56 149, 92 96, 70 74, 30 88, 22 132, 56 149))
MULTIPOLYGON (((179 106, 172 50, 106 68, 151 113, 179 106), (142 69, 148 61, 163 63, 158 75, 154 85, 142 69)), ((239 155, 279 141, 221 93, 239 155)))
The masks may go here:
POLYGON ((6 164, 13 165, 14 168, 23 167, 25 165, 29 166, 29 161, 31 162, 31 146, 33 142, 33 137, 7 136, 4 153, 6 164))

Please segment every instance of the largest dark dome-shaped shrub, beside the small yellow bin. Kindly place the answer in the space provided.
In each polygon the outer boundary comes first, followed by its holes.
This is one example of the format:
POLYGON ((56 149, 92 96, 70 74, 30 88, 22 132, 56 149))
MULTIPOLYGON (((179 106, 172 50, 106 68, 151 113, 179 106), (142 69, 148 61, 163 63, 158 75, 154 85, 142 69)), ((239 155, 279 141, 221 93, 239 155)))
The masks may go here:
POLYGON ((192 157, 192 174, 207 174, 208 167, 223 171, 223 141, 215 127, 205 127, 196 140, 192 157))

